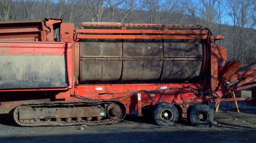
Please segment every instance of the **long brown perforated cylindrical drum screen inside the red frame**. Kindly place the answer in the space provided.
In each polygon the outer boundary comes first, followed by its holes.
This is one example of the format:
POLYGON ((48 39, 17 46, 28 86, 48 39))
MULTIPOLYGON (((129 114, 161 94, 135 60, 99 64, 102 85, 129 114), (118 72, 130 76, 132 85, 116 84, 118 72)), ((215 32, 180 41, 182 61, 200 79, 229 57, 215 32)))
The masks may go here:
POLYGON ((82 83, 198 82, 204 52, 199 39, 82 40, 82 83))

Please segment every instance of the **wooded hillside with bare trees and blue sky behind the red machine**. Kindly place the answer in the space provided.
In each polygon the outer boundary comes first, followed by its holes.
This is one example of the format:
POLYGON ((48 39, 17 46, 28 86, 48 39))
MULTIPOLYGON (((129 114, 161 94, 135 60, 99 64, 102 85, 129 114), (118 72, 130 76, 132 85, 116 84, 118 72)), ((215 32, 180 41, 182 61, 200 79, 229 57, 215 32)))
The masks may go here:
POLYGON ((64 22, 203 24, 228 60, 256 59, 255 0, 1 0, 0 21, 62 18, 64 22))

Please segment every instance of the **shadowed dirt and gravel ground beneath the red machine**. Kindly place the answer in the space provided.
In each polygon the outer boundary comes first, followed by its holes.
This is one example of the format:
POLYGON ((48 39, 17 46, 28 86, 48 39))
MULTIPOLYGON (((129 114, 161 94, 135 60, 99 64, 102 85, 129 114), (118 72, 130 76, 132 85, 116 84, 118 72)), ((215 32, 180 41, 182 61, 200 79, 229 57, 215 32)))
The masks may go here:
POLYGON ((256 110, 239 114, 219 111, 218 127, 194 127, 186 119, 161 127, 151 119, 127 115, 119 123, 103 126, 20 127, 0 116, 1 142, 256 142, 256 110))

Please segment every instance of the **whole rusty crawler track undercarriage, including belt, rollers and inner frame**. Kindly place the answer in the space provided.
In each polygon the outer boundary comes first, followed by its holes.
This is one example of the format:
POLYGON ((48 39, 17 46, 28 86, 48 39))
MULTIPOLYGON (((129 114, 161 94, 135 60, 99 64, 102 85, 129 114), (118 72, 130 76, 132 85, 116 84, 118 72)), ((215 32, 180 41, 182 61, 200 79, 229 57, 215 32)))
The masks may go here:
POLYGON ((108 99, 23 103, 14 110, 21 126, 96 126, 119 122, 125 115, 120 101, 108 99))

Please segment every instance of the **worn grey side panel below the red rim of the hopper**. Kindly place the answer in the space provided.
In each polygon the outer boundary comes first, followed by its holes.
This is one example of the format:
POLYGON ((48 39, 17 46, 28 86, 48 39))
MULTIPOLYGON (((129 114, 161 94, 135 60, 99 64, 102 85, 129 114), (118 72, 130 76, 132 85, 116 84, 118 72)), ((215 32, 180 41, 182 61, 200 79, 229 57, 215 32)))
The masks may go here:
POLYGON ((65 56, 1 55, 0 88, 68 87, 65 56))

